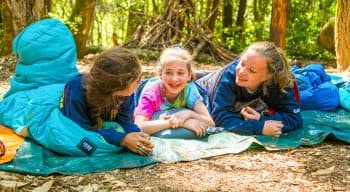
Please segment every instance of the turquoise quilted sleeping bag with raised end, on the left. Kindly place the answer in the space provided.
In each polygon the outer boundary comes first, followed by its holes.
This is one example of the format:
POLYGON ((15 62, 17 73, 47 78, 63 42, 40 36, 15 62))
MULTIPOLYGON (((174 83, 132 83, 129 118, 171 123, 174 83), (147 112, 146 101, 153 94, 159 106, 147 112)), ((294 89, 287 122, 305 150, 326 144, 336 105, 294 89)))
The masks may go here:
POLYGON ((76 46, 66 25, 55 19, 35 22, 17 35, 13 49, 18 63, 0 102, 1 124, 64 155, 97 156, 123 149, 59 110, 65 83, 77 75, 76 46))

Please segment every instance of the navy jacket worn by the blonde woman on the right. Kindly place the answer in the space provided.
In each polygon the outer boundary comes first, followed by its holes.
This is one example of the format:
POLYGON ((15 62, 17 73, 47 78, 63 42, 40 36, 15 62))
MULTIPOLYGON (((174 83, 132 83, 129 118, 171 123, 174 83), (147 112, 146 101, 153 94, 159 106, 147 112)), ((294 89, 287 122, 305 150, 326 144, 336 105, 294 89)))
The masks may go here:
POLYGON ((268 95, 263 94, 262 88, 255 93, 249 93, 235 83, 238 62, 238 59, 231 62, 217 72, 217 75, 207 75, 197 80, 209 93, 211 115, 216 126, 243 135, 261 135, 266 120, 282 121, 282 132, 301 128, 302 118, 293 88, 287 88, 287 93, 281 93, 277 85, 270 85, 268 95), (261 115, 259 120, 244 120, 239 113, 233 112, 236 102, 259 97, 269 109, 275 111, 274 114, 261 115))

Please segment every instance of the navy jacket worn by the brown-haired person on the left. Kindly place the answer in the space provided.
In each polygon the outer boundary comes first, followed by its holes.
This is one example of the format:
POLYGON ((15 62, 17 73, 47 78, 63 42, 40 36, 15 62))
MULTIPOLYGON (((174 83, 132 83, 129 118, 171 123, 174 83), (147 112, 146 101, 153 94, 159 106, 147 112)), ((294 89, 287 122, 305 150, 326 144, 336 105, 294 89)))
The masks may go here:
MULTIPOLYGON (((64 88, 62 113, 72 119, 81 127, 87 130, 92 129, 92 120, 89 117, 89 108, 86 103, 86 96, 82 87, 82 75, 77 75, 64 88)), ((114 145, 120 145, 121 140, 130 132, 139 132, 140 128, 132 121, 132 115, 135 108, 134 96, 125 98, 125 102, 120 106, 115 121, 120 124, 126 133, 117 132, 115 129, 97 129, 96 131, 104 137, 104 139, 114 145)), ((103 120, 110 117, 110 111, 102 114, 103 120)))

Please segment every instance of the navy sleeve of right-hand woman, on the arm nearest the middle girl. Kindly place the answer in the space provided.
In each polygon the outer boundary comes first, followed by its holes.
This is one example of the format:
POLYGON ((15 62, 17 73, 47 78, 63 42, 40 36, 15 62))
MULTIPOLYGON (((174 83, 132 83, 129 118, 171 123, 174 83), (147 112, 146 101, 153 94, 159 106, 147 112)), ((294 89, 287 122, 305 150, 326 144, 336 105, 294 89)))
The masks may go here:
POLYGON ((212 117, 216 126, 242 135, 261 135, 265 121, 244 120, 239 113, 233 112, 236 102, 235 66, 228 67, 214 90, 212 117))

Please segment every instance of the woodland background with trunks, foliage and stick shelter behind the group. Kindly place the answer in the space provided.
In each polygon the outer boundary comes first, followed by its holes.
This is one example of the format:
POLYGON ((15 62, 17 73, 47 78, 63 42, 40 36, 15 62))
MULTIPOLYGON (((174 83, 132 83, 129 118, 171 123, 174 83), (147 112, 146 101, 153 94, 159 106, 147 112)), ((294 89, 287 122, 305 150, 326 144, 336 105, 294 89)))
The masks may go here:
POLYGON ((227 62, 247 45, 270 40, 289 58, 336 59, 350 71, 347 0, 0 0, 0 54, 42 18, 65 22, 78 56, 106 47, 161 50, 174 44, 197 59, 227 62))

